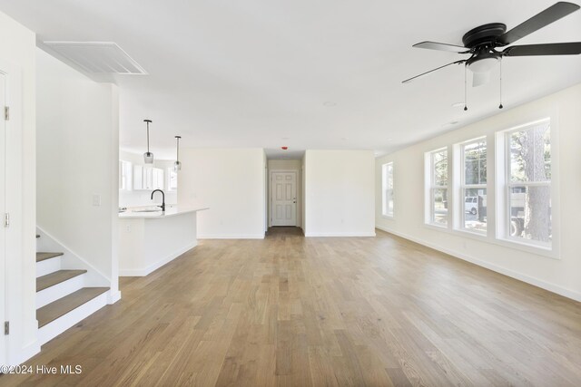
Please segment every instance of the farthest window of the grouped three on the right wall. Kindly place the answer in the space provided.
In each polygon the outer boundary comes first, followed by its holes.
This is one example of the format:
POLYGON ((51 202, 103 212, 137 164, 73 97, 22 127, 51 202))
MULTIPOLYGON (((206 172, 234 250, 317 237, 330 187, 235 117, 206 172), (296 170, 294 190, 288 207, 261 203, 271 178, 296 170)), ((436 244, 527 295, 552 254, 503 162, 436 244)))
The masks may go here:
POLYGON ((428 223, 448 227, 448 150, 428 153, 429 161, 429 214, 428 223))

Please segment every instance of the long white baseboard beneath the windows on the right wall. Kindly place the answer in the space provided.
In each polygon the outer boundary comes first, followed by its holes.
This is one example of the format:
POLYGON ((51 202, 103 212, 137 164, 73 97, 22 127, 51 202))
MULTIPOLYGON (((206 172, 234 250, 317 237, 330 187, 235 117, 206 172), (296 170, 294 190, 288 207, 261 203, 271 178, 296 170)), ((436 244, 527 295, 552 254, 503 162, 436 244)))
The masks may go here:
POLYGON ((456 258, 468 261, 470 263, 473 263, 474 265, 486 267, 489 270, 495 271, 495 272, 500 273, 500 274, 505 275, 505 276, 510 276, 510 277, 515 278, 519 281, 526 282, 527 284, 535 285, 535 286, 540 287, 542 289, 548 290, 549 292, 556 293, 557 295, 563 295, 564 297, 571 298, 572 300, 581 302, 581 293, 576 292, 575 290, 567 289, 566 287, 555 285, 555 284, 552 284, 552 283, 547 282, 547 281, 543 281, 542 279, 538 279, 534 276, 527 276, 525 274, 518 273, 517 271, 514 271, 512 269, 508 269, 508 268, 503 267, 503 266, 497 266, 497 265, 491 264, 487 261, 483 261, 481 259, 475 258, 474 256, 469 256, 468 254, 465 254, 465 253, 459 253, 458 251, 455 251, 455 250, 452 250, 452 249, 449 249, 446 247, 440 247, 440 246, 435 245, 433 243, 429 243, 425 240, 422 240, 418 237, 412 237, 412 236, 409 236, 407 234, 403 234, 403 233, 400 233, 397 231, 390 230, 389 228, 386 228, 386 227, 376 226, 376 228, 379 228, 380 230, 385 231, 389 234, 393 234, 393 235, 398 236, 398 237, 403 237, 404 239, 408 239, 412 242, 418 243, 419 245, 423 245, 426 247, 433 248, 434 250, 441 251, 442 253, 448 254, 449 256, 454 256, 456 258))

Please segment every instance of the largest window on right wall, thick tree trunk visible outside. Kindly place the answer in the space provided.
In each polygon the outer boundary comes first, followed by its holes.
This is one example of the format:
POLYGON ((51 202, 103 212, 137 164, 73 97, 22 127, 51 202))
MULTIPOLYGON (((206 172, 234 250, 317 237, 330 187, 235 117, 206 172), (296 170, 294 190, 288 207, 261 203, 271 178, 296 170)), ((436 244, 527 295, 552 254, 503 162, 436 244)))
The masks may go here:
POLYGON ((505 230, 501 237, 551 247, 550 121, 540 121, 505 135, 505 230))

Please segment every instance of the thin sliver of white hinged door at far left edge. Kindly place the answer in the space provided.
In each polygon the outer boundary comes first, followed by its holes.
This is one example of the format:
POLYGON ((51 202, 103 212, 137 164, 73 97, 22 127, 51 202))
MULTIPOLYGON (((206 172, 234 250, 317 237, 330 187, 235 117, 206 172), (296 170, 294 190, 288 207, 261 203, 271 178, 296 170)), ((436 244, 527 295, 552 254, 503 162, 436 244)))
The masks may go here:
POLYGON ((0 73, 0 215, 2 216, 2 225, 0 226, 0 364, 5 364, 6 360, 6 336, 4 334, 5 319, 5 291, 6 291, 6 231, 5 231, 5 213, 6 213, 6 121, 5 121, 5 106, 6 106, 6 79, 5 74, 0 73))

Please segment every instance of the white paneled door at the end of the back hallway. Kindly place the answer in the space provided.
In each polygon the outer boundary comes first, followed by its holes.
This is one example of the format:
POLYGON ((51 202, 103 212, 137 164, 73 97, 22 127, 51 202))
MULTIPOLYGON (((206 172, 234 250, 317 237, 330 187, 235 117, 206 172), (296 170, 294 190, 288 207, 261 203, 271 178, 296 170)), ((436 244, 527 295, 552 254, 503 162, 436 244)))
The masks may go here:
POLYGON ((271 225, 297 226, 297 173, 272 172, 271 225))

